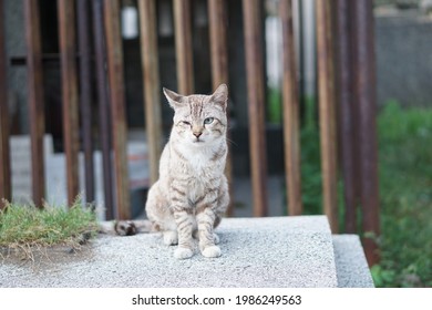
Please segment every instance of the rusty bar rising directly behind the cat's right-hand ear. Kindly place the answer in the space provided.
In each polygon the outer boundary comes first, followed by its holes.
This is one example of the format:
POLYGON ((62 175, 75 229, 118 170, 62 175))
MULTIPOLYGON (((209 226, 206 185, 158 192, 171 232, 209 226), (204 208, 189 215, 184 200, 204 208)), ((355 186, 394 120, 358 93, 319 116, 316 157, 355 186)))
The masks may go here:
MULTIPOLYGON (((208 27, 210 42, 212 81, 213 90, 220 84, 228 84, 228 49, 227 49, 227 11, 225 0, 208 0, 208 27)), ((229 111, 229 106, 228 106, 229 111)), ((228 127, 229 127, 229 113, 228 127)), ((228 132, 229 136, 229 132, 228 132)), ((228 145, 229 148, 229 145, 228 145)), ((230 152, 226 158, 225 175, 228 179, 229 195, 232 197, 227 215, 233 215, 233 162, 230 152)))

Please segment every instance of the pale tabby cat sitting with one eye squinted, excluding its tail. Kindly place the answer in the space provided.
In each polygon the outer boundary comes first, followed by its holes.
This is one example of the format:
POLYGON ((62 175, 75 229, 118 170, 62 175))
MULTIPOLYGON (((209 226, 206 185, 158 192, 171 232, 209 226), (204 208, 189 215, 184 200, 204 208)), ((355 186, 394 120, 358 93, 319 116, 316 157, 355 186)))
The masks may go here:
POLYGON ((165 245, 178 245, 177 259, 194 255, 193 237, 203 256, 220 256, 214 232, 229 204, 224 175, 228 152, 228 87, 212 95, 163 92, 174 108, 173 127, 160 162, 160 178, 150 188, 145 210, 165 245))

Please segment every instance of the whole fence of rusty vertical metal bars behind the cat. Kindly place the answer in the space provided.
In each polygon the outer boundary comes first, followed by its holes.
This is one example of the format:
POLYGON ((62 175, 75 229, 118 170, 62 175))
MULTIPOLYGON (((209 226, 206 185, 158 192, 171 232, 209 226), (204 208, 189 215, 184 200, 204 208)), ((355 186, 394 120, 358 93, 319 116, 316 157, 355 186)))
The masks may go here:
MULTIPOLYGON (((0 16, 3 16, 0 0, 0 16)), ((30 107, 32 198, 37 206, 45 196, 43 167, 44 63, 38 0, 23 0, 30 107)), ((194 92, 191 0, 173 0, 177 90, 194 92)), ((156 27, 156 1, 138 0, 145 126, 151 180, 157 178, 162 140, 161 85, 156 27)), ((212 80, 216 87, 228 81, 227 6, 208 0, 212 80)), ((103 154, 106 218, 130 218, 127 187, 125 89, 117 0, 58 0, 58 25, 63 105, 63 141, 66 155, 68 199, 79 194, 79 130, 83 132, 86 199, 94 199, 94 145, 91 138, 91 94, 97 94, 99 126, 103 154), (91 10, 90 10, 91 9, 91 10), (76 33, 75 33, 76 31, 76 33), (92 35, 90 35, 92 33, 92 35), (76 38, 76 39, 75 39, 76 38), (91 38, 93 40, 91 40, 91 38), (93 49, 90 46, 93 45, 93 49), (94 51, 94 53, 92 53, 94 51), (92 81, 95 76, 95 83, 92 81), (81 115, 80 115, 80 114, 81 115), (111 120, 111 121, 110 121, 111 120), (111 152, 114 159, 111 162, 111 152), (113 184, 115 184, 113 186, 113 184)), ((265 137, 265 80, 261 34, 261 1, 243 0, 244 44, 249 117, 250 172, 254 215, 267 215, 265 137)), ((288 214, 301 215, 299 91, 297 83, 292 3, 279 0, 282 35, 282 111, 288 214)), ((316 1, 317 64, 323 210, 338 232, 337 183, 341 172, 347 232, 357 232, 357 208, 362 210, 362 230, 379 234, 377 176, 373 17, 371 0, 316 1), (338 138, 339 137, 339 138, 338 138), (338 145, 339 142, 339 145, 338 145), (338 161, 340 158, 340 161, 338 161), (341 163, 341 165, 338 164, 341 163)), ((0 197, 11 198, 7 56, 4 24, 0 23, 0 197)), ((228 158, 227 176, 233 182, 228 158)), ((1 204, 0 204, 1 205, 1 204)), ((377 245, 364 239, 370 264, 377 261, 377 245)))

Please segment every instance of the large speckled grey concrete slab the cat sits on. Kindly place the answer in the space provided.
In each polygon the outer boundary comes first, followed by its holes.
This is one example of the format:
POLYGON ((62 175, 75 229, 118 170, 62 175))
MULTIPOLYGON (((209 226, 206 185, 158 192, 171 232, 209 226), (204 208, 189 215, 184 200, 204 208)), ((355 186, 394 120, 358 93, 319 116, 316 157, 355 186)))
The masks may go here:
POLYGON ((0 287, 337 287, 325 216, 227 218, 223 256, 188 260, 160 234, 101 237, 78 257, 39 266, 3 264, 0 287))

